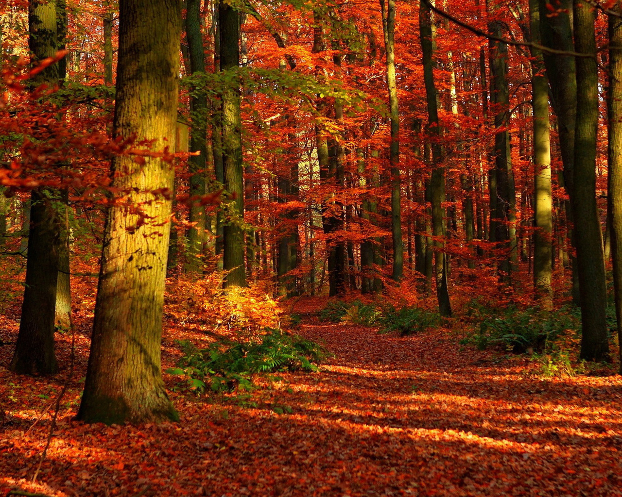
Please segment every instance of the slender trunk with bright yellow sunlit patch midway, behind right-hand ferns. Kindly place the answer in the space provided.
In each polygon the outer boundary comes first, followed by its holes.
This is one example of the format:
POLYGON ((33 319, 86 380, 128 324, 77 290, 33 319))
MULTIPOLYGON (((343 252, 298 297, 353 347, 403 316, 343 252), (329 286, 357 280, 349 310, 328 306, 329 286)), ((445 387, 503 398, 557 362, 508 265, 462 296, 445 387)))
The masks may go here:
MULTIPOLYGON (((529 0, 531 37, 540 39, 539 0, 529 0)), ((549 80, 544 71, 542 52, 532 48, 532 106, 534 112, 534 290, 542 309, 553 309, 552 279, 553 235, 552 194, 550 183, 549 80)))

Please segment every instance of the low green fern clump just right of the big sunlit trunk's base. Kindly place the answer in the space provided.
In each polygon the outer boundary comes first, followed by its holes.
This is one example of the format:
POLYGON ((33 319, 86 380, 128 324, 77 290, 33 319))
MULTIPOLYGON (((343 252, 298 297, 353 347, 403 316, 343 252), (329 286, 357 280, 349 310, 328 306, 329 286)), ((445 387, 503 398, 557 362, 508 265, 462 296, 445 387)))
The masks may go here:
POLYGON ((167 373, 185 376, 190 390, 197 393, 251 390, 257 373, 317 371, 315 363, 329 355, 321 345, 279 329, 270 329, 258 341, 220 340, 207 349, 197 349, 187 341, 180 345, 184 355, 179 367, 167 373))

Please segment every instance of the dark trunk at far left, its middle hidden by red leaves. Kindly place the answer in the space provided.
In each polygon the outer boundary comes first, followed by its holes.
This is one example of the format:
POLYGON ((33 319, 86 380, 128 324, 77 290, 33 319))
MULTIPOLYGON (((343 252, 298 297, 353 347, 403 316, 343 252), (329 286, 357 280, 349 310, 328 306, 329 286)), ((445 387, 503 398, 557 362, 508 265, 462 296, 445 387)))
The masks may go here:
MULTIPOLYGON (((56 55, 58 47, 55 2, 31 0, 28 8, 29 48, 33 60, 56 55)), ((58 83, 58 65, 36 75, 33 86, 58 83)), ((52 194, 53 196, 53 194, 52 194)), ((50 192, 35 189, 30 199, 30 232, 26 290, 17 344, 11 361, 16 373, 50 375, 58 365, 54 354, 54 318, 58 282, 58 219, 50 192)))

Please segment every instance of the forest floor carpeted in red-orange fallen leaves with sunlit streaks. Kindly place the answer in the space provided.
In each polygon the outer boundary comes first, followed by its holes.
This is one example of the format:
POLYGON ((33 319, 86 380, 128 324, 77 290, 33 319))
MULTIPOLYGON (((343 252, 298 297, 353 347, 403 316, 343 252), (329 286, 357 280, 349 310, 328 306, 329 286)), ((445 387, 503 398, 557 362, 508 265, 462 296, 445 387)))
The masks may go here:
MULTIPOLYGON (((165 374, 181 421, 144 426, 73 421, 90 327, 78 320, 34 483, 72 337, 57 340, 53 378, 13 375, 13 345, 0 347, 0 496, 622 496, 621 376, 544 378, 526 356, 460 345, 460 329, 378 334, 314 306, 297 306, 297 332, 335 354, 320 372, 209 397, 165 374)), ((168 322, 164 370, 180 338, 201 339, 168 322)))

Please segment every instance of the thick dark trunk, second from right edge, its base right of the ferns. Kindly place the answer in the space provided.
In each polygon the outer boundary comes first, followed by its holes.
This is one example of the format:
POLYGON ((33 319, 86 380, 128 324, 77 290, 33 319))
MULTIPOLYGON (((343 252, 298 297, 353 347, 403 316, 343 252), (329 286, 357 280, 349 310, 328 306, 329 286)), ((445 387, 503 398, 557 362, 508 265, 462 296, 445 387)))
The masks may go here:
MULTIPOLYGON (((596 53, 595 8, 574 2, 575 50, 596 53)), ((596 206, 596 129, 598 127, 598 68, 593 57, 577 57, 577 127, 575 130, 572 212, 576 226, 577 267, 581 294, 581 358, 608 357, 603 237, 596 206)))

